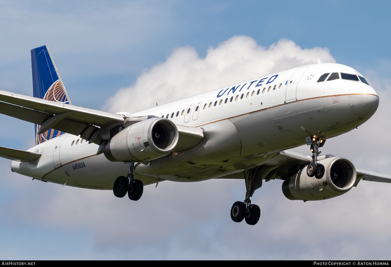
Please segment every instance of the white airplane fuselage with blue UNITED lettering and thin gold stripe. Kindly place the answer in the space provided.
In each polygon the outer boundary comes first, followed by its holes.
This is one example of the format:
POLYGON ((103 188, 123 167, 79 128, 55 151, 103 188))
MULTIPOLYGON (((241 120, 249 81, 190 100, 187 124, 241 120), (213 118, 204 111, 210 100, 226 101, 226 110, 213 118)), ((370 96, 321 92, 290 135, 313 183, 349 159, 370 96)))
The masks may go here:
MULTIPOLYGON (((151 181, 233 177, 279 151, 305 144, 308 135, 328 139, 348 132, 374 114, 379 100, 361 81, 339 77, 317 82, 324 73, 341 72, 362 76, 341 64, 314 64, 130 113, 204 129, 204 138, 194 148, 140 164, 135 172, 151 181)), ((126 176, 126 164, 96 155, 98 145, 81 140, 63 134, 28 150, 42 153, 37 162, 13 161, 11 168, 39 180, 112 189, 118 176, 126 176)))

